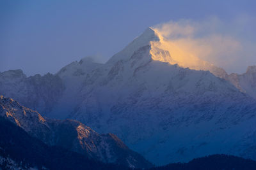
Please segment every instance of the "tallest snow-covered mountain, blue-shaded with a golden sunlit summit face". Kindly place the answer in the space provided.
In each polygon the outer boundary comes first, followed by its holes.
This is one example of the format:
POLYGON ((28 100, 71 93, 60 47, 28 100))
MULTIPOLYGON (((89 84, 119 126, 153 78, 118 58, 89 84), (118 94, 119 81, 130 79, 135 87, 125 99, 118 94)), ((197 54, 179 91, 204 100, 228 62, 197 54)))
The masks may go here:
MULTIPOLYGON (((256 101, 223 69, 180 52, 152 28, 106 64, 92 63, 74 62, 52 75, 63 90, 56 102, 49 99, 53 106, 45 117, 72 118, 116 134, 157 165, 218 153, 256 160, 256 101)), ((7 83, 20 88, 12 78, 7 83)), ((10 96, 5 86, 1 92, 10 96)))

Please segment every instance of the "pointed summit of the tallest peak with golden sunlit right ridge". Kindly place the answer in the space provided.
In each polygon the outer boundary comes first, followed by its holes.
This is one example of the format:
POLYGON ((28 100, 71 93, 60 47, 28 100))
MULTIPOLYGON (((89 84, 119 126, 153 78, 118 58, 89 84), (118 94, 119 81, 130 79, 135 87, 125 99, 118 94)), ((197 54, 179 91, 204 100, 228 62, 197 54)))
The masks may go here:
POLYGON ((184 52, 179 46, 172 41, 163 38, 161 32, 152 27, 148 27, 143 34, 134 39, 124 50, 116 53, 109 63, 117 60, 129 60, 129 57, 144 46, 149 46, 148 57, 152 60, 168 62, 169 64, 178 64, 180 67, 188 67, 189 69, 210 71, 215 76, 227 78, 228 74, 220 67, 213 66, 207 61, 201 60, 191 53, 184 52))

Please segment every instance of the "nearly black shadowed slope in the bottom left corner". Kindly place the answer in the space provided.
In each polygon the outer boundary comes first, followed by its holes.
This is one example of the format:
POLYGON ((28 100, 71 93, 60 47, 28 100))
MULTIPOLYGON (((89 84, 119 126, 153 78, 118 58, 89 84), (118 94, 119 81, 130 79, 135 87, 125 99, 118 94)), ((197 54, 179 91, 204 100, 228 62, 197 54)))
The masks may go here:
POLYGON ((45 145, 6 117, 0 117, 0 139, 0 169, 130 169, 45 145))

